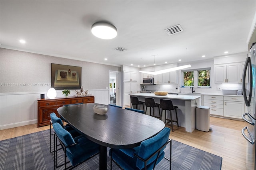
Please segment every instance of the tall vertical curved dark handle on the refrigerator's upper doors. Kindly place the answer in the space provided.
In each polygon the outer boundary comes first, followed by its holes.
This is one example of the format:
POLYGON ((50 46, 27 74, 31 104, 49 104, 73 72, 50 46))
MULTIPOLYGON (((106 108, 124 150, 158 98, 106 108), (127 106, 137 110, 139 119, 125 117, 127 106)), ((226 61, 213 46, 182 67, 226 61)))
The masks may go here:
POLYGON ((243 91, 243 96, 244 96, 244 102, 246 106, 250 106, 251 99, 252 99, 252 61, 250 57, 246 58, 246 61, 244 63, 244 70, 243 70, 243 79, 242 79, 242 91, 243 91), (249 96, 247 99, 246 95, 246 87, 245 87, 245 77, 246 77, 246 70, 249 65, 249 75, 250 75, 250 81, 249 81, 249 96))

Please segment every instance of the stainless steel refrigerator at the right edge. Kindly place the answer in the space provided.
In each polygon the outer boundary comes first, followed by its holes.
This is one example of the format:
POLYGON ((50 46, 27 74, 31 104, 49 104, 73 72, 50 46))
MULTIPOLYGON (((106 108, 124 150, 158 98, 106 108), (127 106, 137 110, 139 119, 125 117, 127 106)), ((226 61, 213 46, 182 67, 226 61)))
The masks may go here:
POLYGON ((242 119, 247 122, 247 126, 242 129, 242 135, 246 140, 246 169, 256 170, 255 145, 256 145, 256 43, 253 43, 249 55, 246 58, 243 71, 242 92, 244 102, 247 106, 247 113, 242 115, 242 119))

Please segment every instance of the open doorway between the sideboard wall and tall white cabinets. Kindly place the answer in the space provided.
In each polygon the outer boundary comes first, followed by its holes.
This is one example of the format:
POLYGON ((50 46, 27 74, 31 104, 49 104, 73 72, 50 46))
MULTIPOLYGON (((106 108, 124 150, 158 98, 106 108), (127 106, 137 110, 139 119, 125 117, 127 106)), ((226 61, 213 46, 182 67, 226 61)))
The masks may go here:
POLYGON ((109 77, 109 104, 120 106, 120 71, 108 71, 109 77))

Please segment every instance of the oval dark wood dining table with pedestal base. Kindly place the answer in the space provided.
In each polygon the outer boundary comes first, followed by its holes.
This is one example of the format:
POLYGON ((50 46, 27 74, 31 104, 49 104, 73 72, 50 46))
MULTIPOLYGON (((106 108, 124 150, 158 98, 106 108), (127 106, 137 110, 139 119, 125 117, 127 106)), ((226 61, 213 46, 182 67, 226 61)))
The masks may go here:
POLYGON ((93 111, 98 103, 68 105, 57 109, 70 126, 100 145, 100 170, 107 168, 107 147, 133 148, 143 140, 155 136, 164 128, 164 122, 127 109, 108 106, 105 115, 93 111))

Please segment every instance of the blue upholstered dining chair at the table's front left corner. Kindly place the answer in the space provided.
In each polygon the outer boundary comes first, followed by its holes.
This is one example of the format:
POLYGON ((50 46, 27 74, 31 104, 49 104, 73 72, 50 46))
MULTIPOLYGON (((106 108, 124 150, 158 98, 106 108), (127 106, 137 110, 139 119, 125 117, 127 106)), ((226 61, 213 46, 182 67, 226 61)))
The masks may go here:
POLYGON ((52 127, 54 129, 54 169, 63 165, 58 166, 57 138, 64 150, 65 170, 74 168, 99 153, 100 146, 83 135, 73 138, 70 132, 65 130, 59 123, 54 123, 52 127), (71 163, 69 167, 67 167, 66 158, 71 163))

